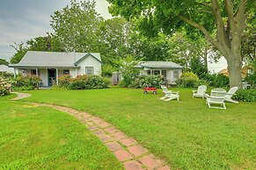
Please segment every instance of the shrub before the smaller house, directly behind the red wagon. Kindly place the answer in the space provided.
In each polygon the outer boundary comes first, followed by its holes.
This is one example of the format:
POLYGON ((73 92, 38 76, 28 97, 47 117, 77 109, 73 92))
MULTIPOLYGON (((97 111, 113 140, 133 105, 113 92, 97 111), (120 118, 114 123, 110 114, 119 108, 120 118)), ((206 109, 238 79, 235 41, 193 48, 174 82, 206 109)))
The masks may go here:
POLYGON ((140 88, 160 88, 161 84, 164 84, 164 80, 161 75, 143 75, 140 77, 140 88))

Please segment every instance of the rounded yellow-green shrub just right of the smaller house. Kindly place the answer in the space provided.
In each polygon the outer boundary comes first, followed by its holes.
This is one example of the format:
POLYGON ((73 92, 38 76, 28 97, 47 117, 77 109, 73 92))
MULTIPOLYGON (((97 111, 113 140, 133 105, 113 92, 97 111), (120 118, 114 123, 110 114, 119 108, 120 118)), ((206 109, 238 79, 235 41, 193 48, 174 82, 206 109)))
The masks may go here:
POLYGON ((183 73, 180 76, 180 79, 176 81, 176 83, 180 88, 196 88, 199 85, 200 80, 197 74, 187 72, 183 73))

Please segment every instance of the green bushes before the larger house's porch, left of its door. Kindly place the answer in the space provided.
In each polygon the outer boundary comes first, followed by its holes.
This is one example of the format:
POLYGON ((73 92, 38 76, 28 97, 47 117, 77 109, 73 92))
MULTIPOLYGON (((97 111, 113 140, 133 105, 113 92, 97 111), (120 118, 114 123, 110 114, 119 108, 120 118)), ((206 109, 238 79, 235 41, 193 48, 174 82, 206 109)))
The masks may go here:
POLYGON ((22 88, 22 89, 33 89, 38 87, 38 83, 41 81, 40 77, 38 76, 17 76, 15 83, 15 88, 22 88), (31 88, 32 87, 32 88, 31 88))

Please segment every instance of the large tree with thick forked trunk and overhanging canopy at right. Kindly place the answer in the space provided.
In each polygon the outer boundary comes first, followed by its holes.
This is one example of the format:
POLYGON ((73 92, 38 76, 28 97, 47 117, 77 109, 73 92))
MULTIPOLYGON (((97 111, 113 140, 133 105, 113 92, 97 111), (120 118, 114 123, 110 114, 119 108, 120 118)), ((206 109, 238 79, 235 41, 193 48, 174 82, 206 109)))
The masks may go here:
POLYGON ((170 34, 180 26, 185 26, 190 32, 200 30, 227 60, 230 87, 242 86, 241 39, 246 15, 255 11, 255 0, 107 1, 113 15, 143 18, 143 30, 151 35, 159 31, 170 34))

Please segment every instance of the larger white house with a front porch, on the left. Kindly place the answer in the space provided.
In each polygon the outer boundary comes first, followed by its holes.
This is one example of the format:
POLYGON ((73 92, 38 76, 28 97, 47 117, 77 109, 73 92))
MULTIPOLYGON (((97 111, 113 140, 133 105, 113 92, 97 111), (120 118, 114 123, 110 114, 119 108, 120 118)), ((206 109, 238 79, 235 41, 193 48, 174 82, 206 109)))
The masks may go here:
MULTIPOLYGON (((9 65, 18 74, 40 76, 43 86, 58 83, 58 77, 69 74, 100 74, 99 53, 59 53, 28 51, 18 64, 9 65)), ((16 74, 14 75, 16 76, 16 74)))

